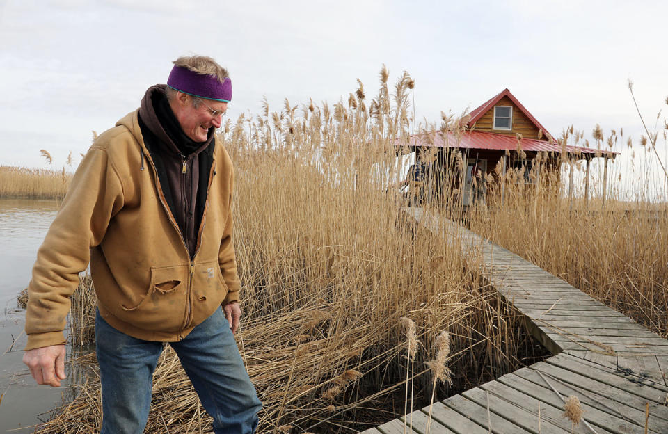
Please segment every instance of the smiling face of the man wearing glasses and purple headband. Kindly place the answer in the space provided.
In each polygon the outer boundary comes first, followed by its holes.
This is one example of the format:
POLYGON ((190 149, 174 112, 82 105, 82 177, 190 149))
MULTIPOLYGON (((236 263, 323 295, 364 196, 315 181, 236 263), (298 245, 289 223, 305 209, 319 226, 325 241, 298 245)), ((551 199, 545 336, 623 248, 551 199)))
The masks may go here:
POLYGON ((196 142, 203 142, 207 140, 209 128, 221 127, 223 113, 228 109, 228 103, 205 99, 195 107, 192 97, 185 94, 180 94, 180 97, 185 97, 186 101, 182 101, 184 104, 181 104, 180 113, 174 114, 186 136, 196 142), (220 113, 214 115, 213 111, 220 113))

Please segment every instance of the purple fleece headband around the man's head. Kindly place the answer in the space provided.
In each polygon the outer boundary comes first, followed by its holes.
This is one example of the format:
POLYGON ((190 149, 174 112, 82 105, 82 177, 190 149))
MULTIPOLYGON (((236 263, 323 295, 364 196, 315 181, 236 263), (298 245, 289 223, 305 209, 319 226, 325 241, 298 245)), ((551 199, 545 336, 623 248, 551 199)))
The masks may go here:
POLYGON ((213 75, 202 75, 184 66, 174 66, 169 73, 167 86, 187 93, 193 97, 213 99, 214 101, 232 101, 232 80, 225 77, 223 83, 213 75))

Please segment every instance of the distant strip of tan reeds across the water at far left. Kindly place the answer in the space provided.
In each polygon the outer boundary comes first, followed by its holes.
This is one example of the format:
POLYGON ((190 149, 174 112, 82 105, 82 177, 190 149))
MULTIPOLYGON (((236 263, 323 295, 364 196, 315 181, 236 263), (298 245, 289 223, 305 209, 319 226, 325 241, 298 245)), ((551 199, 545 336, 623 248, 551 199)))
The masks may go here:
POLYGON ((65 170, 0 166, 0 197, 62 199, 72 175, 65 170))

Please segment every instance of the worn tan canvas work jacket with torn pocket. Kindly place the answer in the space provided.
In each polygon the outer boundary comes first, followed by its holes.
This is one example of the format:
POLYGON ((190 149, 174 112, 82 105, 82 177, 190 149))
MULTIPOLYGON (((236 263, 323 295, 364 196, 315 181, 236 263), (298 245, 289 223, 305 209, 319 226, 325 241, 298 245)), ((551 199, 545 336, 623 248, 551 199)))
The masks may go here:
POLYGON ((191 261, 137 114, 101 134, 74 174, 33 267, 26 350, 65 342, 70 296, 89 262, 100 314, 138 339, 178 341, 221 305, 239 300, 230 156, 216 138, 191 261))

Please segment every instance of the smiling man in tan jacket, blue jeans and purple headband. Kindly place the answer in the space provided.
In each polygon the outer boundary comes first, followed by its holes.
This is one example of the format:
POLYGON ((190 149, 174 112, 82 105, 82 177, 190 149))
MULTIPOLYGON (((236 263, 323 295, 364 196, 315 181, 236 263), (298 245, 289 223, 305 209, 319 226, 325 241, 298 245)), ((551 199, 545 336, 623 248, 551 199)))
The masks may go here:
POLYGON ((143 432, 163 342, 214 433, 257 426, 261 403, 232 335, 241 316, 234 175, 214 134, 231 99, 212 58, 178 58, 167 86, 149 88, 140 109, 95 140, 38 252, 24 362, 38 384, 65 378, 65 317, 90 262, 103 434, 143 432))

